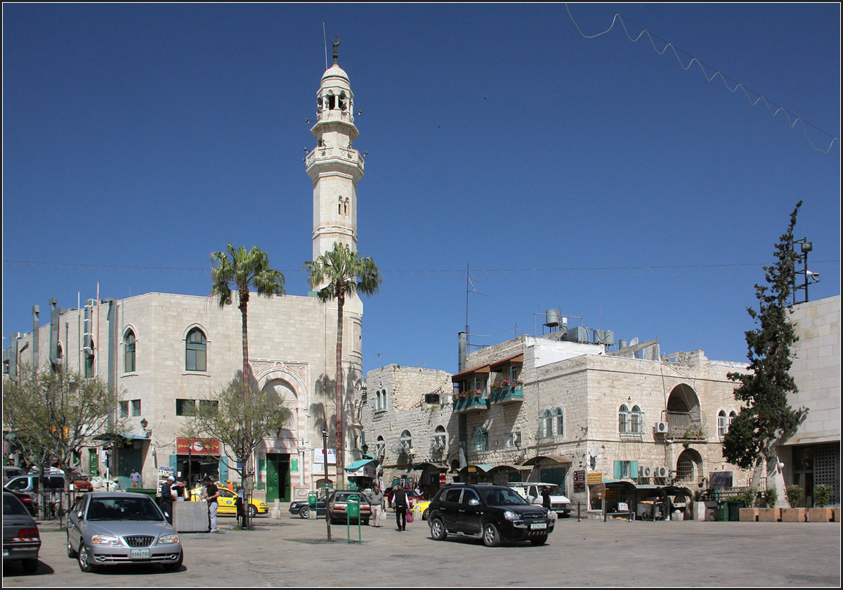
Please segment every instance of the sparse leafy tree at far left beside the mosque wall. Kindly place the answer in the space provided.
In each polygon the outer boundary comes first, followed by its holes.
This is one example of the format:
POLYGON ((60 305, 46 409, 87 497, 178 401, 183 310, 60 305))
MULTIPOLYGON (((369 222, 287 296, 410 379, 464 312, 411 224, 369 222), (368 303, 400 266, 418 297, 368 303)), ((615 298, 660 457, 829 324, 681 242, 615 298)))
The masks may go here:
POLYGON ((116 389, 99 377, 21 365, 18 378, 3 383, 4 430, 41 474, 58 463, 70 484, 70 470, 78 468, 91 437, 121 427, 113 419, 117 402, 116 389))

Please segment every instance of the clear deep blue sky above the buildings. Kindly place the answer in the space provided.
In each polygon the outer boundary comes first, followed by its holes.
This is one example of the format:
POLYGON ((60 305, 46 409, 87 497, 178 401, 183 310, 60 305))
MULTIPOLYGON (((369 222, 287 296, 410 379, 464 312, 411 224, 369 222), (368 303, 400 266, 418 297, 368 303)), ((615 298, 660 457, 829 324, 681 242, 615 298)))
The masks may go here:
POLYGON ((325 23, 363 111, 358 249, 384 275, 364 370, 456 371, 467 265, 472 344, 558 307, 745 360, 799 199, 809 295, 840 294, 840 5, 571 6, 585 35, 616 12, 682 63, 617 20, 584 38, 565 4, 4 4, 3 347, 97 281, 207 295, 228 241, 306 294, 325 23))

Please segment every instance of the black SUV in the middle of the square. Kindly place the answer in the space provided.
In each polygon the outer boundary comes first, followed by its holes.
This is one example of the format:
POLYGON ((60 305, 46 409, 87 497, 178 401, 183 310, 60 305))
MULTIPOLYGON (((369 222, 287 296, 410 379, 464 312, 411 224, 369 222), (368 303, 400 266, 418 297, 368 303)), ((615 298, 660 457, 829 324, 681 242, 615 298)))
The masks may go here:
POLYGON ((433 497, 429 510, 433 539, 459 534, 483 539, 486 547, 497 547, 502 540, 544 544, 554 524, 544 508, 502 485, 448 484, 433 497))

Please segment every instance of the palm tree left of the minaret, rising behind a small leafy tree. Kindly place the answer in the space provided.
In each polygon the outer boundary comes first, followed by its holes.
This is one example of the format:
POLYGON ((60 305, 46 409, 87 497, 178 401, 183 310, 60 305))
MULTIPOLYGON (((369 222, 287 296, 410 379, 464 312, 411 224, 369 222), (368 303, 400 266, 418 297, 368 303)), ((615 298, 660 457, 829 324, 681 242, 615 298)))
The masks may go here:
MULTIPOLYGON (((211 296, 219 297, 219 306, 223 308, 231 303, 232 289, 239 296, 240 315, 243 317, 243 384, 251 381, 249 367, 249 327, 248 309, 250 288, 254 287, 258 295, 271 297, 284 294, 284 275, 270 268, 269 257, 258 246, 252 246, 250 252, 244 247, 234 249, 228 244, 228 252, 212 252, 211 261, 216 268, 211 270, 211 296)), ((247 391, 244 389, 244 391, 247 391)))

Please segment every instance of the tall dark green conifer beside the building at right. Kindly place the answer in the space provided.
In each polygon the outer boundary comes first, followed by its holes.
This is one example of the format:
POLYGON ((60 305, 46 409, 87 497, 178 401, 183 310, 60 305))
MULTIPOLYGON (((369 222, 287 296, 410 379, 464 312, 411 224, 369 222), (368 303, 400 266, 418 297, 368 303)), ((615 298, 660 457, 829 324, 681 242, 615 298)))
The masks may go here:
POLYGON ((754 468, 755 482, 760 480, 765 463, 768 474, 778 463, 776 445, 792 436, 808 415, 805 408, 793 409, 787 399, 788 394, 798 391, 790 375, 791 346, 797 335, 787 301, 796 277, 793 228, 801 206, 799 201, 787 232, 776 243, 776 263, 764 268, 767 284, 755 285, 758 311, 747 308, 749 317, 758 324, 745 333, 749 372, 728 374, 729 379, 740 383, 734 397, 744 405, 723 437, 723 457, 740 468, 754 468))

